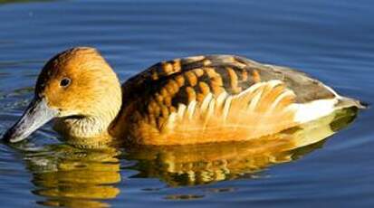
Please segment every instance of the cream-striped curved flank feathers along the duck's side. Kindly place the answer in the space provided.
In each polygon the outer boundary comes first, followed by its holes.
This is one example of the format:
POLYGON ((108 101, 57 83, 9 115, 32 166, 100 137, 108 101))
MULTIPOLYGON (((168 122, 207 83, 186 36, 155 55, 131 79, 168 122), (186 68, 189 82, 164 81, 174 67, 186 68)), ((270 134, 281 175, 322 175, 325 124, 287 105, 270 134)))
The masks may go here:
MULTIPOLYGON (((245 123, 230 122, 231 117, 241 117, 247 115, 257 115, 259 117, 271 118, 273 113, 278 115, 292 113, 295 110, 292 107, 292 103, 282 106, 282 102, 287 102, 287 99, 294 99, 295 94, 292 90, 283 88, 283 90, 276 95, 275 98, 271 98, 273 102, 267 103, 265 100, 270 94, 273 93, 275 88, 283 87, 284 83, 282 80, 269 80, 255 83, 253 86, 244 90, 236 95, 229 95, 227 92, 222 92, 218 96, 213 96, 212 93, 206 94, 205 99, 202 100, 201 104, 197 103, 197 100, 191 100, 186 106, 179 103, 177 111, 169 115, 167 125, 164 128, 172 130, 178 127, 180 122, 191 122, 192 120, 200 120, 203 122, 203 127, 196 127, 199 129, 205 129, 212 119, 215 122, 221 121, 223 128, 225 127, 239 127, 246 126, 245 123), (243 103, 243 101, 245 103, 243 103), (266 103, 264 103, 266 102, 266 103), (244 105, 245 115, 230 114, 234 110, 241 109, 244 105), (264 107, 264 112, 260 107, 264 107), (276 109, 280 109, 279 112, 274 112, 276 109), (178 123, 178 124, 177 124, 178 123)), ((253 118, 252 118, 253 119, 253 118)), ((180 127, 180 126, 179 126, 180 127)), ((191 126, 189 127, 191 130, 191 126)), ((162 129, 165 130, 165 129, 162 129)), ((184 130, 187 130, 186 128, 184 130)))

